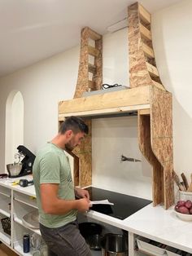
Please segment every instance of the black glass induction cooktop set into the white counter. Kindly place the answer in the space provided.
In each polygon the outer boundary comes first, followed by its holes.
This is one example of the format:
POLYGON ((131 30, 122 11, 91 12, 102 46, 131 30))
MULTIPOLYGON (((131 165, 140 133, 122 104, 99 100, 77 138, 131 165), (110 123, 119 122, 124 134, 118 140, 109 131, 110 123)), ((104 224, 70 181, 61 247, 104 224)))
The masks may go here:
POLYGON ((115 218, 127 218, 151 203, 151 201, 140 197, 128 196, 100 188, 89 187, 86 189, 89 191, 91 201, 108 199, 108 201, 114 203, 114 205, 93 205, 90 210, 95 210, 115 218))

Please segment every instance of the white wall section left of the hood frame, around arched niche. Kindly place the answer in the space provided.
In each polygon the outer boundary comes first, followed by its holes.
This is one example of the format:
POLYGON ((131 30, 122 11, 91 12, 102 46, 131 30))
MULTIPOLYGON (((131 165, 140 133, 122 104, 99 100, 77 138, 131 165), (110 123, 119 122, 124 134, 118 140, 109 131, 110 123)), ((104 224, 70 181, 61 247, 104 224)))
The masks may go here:
MULTIPOLYGON (((58 102, 71 99, 76 87, 79 47, 0 79, 0 170, 4 171, 7 97, 24 98, 24 146, 34 153, 58 130, 58 102)), ((1 171, 0 171, 1 173, 1 171)))

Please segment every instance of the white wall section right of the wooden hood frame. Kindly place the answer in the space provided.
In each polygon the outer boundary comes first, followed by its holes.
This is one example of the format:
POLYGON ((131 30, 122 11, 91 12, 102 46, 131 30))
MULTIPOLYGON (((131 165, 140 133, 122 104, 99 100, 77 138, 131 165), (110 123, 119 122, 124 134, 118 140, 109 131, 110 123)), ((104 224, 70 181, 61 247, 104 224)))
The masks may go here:
POLYGON ((153 15, 152 35, 160 77, 173 96, 174 168, 192 173, 192 1, 153 15))

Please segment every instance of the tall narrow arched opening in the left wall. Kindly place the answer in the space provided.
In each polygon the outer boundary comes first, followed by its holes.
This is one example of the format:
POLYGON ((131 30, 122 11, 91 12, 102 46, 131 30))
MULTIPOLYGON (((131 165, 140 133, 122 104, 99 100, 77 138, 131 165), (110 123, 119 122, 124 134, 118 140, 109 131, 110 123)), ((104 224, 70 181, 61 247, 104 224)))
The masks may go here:
POLYGON ((24 143, 24 99, 20 91, 11 91, 7 98, 5 141, 5 165, 7 166, 15 161, 16 148, 24 143))

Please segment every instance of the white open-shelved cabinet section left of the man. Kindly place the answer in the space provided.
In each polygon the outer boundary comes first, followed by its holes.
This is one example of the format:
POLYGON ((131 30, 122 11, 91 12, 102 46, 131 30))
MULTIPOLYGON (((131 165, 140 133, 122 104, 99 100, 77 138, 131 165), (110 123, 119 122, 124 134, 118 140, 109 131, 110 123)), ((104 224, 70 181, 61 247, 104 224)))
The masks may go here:
POLYGON ((37 209, 34 188, 20 189, 19 185, 11 186, 11 181, 12 179, 0 181, 0 217, 11 218, 11 235, 4 232, 1 225, 0 241, 16 254, 30 256, 33 255, 34 249, 31 248, 28 254, 24 254, 23 236, 36 233, 41 237, 41 234, 38 229, 25 227, 22 218, 25 214, 37 209))

